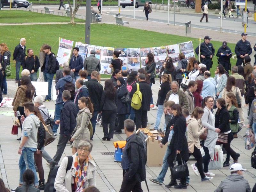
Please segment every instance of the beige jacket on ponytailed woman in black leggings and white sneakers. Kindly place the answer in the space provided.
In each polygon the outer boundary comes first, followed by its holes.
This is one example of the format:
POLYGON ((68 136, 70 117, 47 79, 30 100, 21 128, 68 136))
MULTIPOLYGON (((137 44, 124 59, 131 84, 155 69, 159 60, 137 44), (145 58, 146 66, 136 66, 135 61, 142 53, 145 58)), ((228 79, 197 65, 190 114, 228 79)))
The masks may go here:
POLYGON ((201 129, 201 120, 196 120, 194 117, 190 117, 187 121, 188 124, 188 143, 193 143, 196 148, 200 149, 199 136, 203 134, 201 129))

